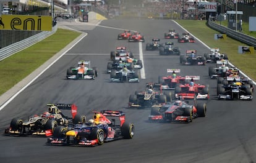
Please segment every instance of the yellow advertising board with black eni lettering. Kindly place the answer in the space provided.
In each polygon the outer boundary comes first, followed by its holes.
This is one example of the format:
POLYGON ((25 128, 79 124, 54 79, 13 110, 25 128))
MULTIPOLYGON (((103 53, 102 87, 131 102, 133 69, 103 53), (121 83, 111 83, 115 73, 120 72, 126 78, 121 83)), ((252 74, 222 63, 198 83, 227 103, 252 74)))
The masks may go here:
POLYGON ((51 31, 51 16, 1 15, 0 30, 51 31))

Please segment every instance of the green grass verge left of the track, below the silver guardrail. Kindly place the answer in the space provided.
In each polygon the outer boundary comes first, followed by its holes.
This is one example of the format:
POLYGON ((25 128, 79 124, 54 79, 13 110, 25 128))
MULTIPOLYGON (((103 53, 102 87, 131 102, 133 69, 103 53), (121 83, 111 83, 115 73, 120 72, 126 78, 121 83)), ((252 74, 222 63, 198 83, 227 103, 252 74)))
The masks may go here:
POLYGON ((81 33, 58 29, 43 41, 0 62, 0 95, 43 65, 81 33))

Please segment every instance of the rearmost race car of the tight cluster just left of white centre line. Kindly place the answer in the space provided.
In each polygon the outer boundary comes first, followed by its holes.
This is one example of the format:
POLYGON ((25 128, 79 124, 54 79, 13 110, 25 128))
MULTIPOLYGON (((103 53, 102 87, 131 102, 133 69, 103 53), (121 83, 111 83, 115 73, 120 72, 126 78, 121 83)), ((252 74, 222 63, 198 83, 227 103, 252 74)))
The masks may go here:
POLYGON ((125 46, 117 46, 116 51, 111 51, 110 52, 110 59, 113 61, 116 60, 126 60, 126 57, 129 56, 130 58, 134 58, 134 55, 132 52, 127 51, 125 46))

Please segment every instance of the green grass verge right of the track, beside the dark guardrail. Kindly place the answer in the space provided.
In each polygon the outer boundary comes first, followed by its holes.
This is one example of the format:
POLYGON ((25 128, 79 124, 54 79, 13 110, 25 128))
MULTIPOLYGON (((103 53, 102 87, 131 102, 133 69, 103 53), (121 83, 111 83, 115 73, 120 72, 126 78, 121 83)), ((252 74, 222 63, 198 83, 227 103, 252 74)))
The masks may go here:
POLYGON ((238 54, 238 46, 246 46, 244 43, 231 38, 214 39, 214 34, 218 31, 212 30, 206 25, 206 21, 202 20, 176 20, 181 26, 186 28, 190 33, 201 41, 205 42, 211 48, 220 48, 221 52, 228 54, 229 61, 237 68, 242 70, 250 78, 256 80, 256 50, 254 54, 238 54))

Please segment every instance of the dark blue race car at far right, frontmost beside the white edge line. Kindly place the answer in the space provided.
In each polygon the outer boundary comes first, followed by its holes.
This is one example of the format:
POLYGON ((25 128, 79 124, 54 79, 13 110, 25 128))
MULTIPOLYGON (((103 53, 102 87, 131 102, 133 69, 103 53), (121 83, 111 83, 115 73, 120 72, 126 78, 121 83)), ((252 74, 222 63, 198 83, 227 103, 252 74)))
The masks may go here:
POLYGON ((251 85, 242 82, 241 78, 227 78, 224 84, 218 84, 217 88, 218 100, 252 100, 252 92, 251 85))

